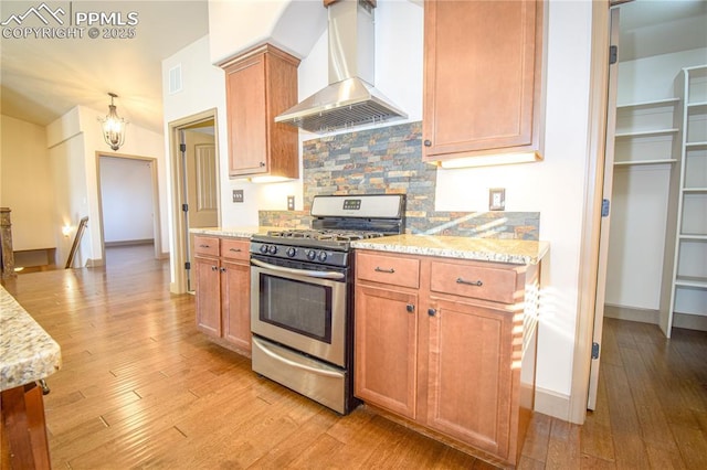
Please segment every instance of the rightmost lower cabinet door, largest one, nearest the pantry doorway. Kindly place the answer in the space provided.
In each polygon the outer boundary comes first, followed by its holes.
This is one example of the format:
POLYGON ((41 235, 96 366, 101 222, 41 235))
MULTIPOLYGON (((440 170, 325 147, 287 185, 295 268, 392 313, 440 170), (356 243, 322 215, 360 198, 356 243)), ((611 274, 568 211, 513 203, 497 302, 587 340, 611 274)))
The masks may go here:
POLYGON ((449 301, 430 313, 428 426, 507 456, 511 314, 449 301))

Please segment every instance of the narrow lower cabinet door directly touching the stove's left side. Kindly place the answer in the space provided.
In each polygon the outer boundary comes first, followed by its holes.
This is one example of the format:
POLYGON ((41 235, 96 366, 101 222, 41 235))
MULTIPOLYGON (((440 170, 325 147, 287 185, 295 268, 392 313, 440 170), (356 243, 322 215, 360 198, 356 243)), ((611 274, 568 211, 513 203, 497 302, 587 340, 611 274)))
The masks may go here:
POLYGON ((221 305, 223 339, 233 345, 251 350, 251 267, 222 261, 221 305))

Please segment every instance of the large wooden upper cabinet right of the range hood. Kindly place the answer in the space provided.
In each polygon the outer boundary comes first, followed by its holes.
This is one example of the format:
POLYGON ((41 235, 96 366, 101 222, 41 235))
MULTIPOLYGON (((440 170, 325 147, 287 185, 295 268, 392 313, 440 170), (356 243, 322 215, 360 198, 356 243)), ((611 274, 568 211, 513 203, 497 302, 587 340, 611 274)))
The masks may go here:
POLYGON ((425 161, 541 151, 542 9, 425 1, 425 161))

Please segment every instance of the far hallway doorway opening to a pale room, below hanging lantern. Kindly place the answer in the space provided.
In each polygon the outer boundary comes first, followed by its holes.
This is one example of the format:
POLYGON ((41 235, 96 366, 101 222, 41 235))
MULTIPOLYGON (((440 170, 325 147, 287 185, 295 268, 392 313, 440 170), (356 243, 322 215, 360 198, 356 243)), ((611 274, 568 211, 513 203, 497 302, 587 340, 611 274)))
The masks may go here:
POLYGON ((151 245, 161 257, 157 159, 96 152, 101 252, 106 246, 151 245))

